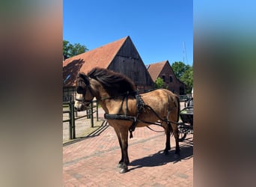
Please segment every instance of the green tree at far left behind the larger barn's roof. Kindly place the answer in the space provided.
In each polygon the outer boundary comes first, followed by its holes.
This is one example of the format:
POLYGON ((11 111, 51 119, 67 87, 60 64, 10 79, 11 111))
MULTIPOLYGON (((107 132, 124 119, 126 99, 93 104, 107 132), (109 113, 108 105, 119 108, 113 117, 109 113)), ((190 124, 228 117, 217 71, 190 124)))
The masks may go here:
POLYGON ((79 55, 83 52, 87 52, 88 48, 80 43, 71 44, 67 40, 63 40, 63 55, 64 59, 79 55))

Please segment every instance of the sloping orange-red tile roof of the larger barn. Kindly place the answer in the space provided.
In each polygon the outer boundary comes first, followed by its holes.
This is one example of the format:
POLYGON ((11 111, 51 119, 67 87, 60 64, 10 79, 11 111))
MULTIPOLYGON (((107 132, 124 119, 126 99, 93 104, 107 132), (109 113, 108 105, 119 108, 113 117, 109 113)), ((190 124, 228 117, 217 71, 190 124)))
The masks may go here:
POLYGON ((100 46, 97 49, 67 58, 63 62, 63 83, 64 87, 74 86, 76 75, 79 71, 88 73, 94 67, 108 68, 115 55, 129 36, 100 46))

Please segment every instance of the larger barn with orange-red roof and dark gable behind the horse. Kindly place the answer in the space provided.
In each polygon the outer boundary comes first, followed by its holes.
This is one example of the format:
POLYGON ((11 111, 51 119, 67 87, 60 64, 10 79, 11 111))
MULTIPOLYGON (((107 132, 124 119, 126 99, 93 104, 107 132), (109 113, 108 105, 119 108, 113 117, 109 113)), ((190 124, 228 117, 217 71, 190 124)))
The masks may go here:
POLYGON ((76 75, 88 73, 94 67, 102 67, 123 73, 135 82, 138 90, 153 88, 153 80, 129 36, 100 46, 97 49, 67 58, 63 62, 63 100, 73 99, 76 75))

